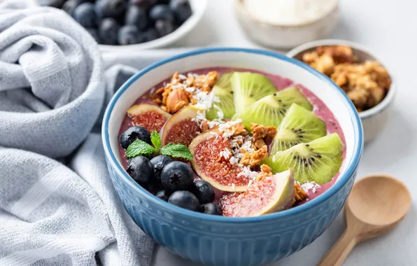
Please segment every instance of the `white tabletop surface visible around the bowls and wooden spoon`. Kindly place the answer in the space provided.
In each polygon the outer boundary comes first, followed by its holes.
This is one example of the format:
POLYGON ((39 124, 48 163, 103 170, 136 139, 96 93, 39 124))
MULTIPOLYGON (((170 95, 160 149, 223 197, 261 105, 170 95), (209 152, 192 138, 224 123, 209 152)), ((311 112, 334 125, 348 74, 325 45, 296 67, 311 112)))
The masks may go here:
MULTIPOLYGON (((210 0, 204 20, 178 46, 258 47, 236 22, 231 0, 210 0)), ((365 146, 358 178, 392 174, 409 186, 410 213, 395 230, 356 246, 344 265, 417 265, 417 1, 341 0, 341 21, 332 38, 367 45, 394 72, 398 93, 388 126, 365 146)), ((316 265, 344 230, 341 215, 313 244, 271 265, 316 265)), ((158 248, 155 266, 192 266, 158 248)))

